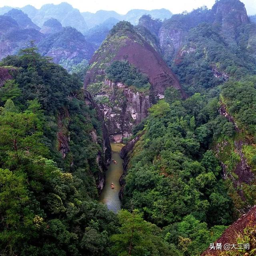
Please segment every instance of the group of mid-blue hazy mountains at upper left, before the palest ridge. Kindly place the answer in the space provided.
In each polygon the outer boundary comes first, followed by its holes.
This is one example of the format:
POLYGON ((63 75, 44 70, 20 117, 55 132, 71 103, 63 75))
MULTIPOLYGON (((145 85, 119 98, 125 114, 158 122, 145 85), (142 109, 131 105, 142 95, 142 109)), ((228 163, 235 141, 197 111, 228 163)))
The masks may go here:
POLYGON ((0 26, 0 59, 17 54, 33 42, 40 54, 52 57, 54 63, 74 72, 85 70, 95 50, 75 28, 63 28, 58 20, 50 19, 40 29, 21 10, 12 9, 0 16, 0 26))

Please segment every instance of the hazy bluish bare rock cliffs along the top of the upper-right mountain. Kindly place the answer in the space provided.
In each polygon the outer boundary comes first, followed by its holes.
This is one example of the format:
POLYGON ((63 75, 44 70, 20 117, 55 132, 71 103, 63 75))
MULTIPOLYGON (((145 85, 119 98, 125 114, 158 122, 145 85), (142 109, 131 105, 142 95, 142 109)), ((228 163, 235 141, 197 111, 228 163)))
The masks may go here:
MULTIPOLYGON (((159 44, 168 61, 179 59, 180 50, 188 44, 188 32, 202 22, 220 30, 228 44, 237 44, 237 28, 249 22, 244 4, 239 0, 218 0, 211 10, 199 8, 188 14, 176 14, 163 22, 159 32, 159 44)), ((189 44, 188 44, 189 45, 189 44)))

